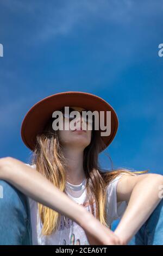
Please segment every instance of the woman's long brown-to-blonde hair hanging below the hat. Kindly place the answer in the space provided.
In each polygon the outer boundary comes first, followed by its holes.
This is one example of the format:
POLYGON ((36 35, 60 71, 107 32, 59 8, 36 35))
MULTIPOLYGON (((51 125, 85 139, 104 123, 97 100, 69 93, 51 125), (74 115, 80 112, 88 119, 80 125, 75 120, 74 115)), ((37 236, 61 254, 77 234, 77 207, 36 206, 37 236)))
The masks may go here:
MULTIPOLYGON (((36 170, 45 176, 49 181, 66 193, 66 161, 62 154, 62 146, 59 141, 58 131, 52 129, 50 119, 45 129, 37 135, 36 146, 32 156, 32 164, 36 164, 36 170)), ((84 149, 83 168, 86 176, 86 194, 92 213, 93 202, 96 203, 96 218, 107 226, 106 223, 106 186, 117 175, 129 173, 136 175, 146 173, 148 170, 132 171, 125 168, 102 170, 98 163, 100 150, 105 144, 99 135, 99 131, 92 130, 91 142, 84 149)), ((39 215, 43 224, 41 234, 51 235, 56 231, 60 223, 60 214, 48 207, 38 203, 39 215)))

